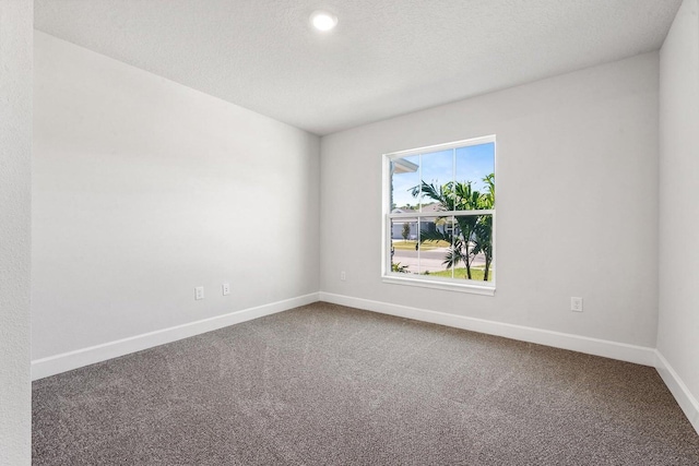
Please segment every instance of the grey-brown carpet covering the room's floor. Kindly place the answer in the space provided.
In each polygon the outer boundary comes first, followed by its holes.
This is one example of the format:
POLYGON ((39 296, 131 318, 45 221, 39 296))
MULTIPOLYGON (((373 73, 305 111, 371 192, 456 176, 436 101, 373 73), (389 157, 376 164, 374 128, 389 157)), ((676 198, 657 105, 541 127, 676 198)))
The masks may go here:
POLYGON ((315 303, 43 379, 35 465, 699 465, 654 369, 315 303))

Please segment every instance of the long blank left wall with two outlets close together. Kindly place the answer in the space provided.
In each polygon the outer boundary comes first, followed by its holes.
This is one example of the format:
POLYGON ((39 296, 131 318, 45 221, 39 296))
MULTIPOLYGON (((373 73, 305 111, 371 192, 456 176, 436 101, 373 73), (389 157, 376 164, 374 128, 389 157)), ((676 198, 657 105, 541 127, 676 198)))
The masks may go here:
POLYGON ((317 136, 39 32, 34 92, 33 359, 318 291, 317 136))

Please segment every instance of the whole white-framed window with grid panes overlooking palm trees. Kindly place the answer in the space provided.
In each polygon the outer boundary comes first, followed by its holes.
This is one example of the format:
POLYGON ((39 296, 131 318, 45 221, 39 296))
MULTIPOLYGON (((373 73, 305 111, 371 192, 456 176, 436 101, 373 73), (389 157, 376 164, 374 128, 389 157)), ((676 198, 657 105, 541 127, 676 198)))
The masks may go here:
POLYGON ((495 136, 384 155, 383 280, 495 292, 495 136))

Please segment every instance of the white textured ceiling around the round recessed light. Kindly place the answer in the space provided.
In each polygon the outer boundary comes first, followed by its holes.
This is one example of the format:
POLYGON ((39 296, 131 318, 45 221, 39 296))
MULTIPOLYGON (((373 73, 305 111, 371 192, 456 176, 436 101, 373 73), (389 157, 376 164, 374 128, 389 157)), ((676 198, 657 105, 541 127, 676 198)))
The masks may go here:
POLYGON ((656 50, 682 0, 35 0, 35 27, 316 134, 656 50), (310 13, 340 20, 316 33, 310 13))

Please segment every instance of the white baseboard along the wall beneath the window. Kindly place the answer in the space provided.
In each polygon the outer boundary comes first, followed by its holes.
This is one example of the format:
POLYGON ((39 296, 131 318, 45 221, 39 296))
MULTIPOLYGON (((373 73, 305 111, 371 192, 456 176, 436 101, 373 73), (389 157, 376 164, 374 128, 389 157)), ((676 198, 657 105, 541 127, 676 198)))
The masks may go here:
POLYGON ((609 342, 606 339, 590 338, 587 336, 568 333, 552 332, 523 325, 513 325, 484 319, 466 318, 463 315, 448 314, 445 312, 429 311, 426 309, 411 308, 407 306, 392 304, 389 302, 372 301, 350 296, 320 292, 320 300, 335 304, 348 306, 367 311, 414 319, 457 328, 489 335, 503 336, 522 342, 536 343, 555 348, 570 349, 588 355, 602 356, 637 365, 655 367, 655 349, 644 346, 628 345, 625 343, 609 342))

